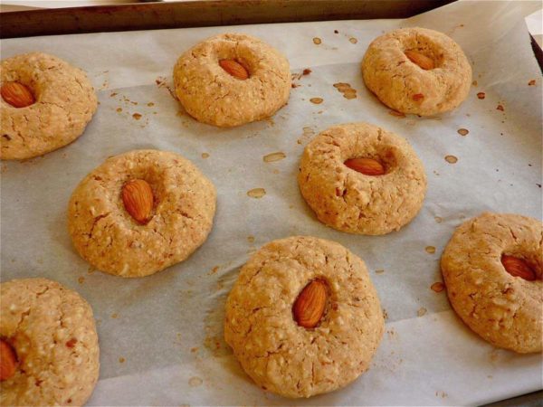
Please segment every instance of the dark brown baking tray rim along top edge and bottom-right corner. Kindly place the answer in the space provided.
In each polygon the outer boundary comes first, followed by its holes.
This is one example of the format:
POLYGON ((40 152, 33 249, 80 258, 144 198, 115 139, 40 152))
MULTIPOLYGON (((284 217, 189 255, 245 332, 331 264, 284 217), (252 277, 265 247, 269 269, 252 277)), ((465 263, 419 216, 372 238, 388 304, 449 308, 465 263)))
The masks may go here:
MULTIPOLYGON (((0 35, 11 38, 209 25, 403 18, 446 3, 450 1, 198 1, 35 10, 2 14, 0 35), (43 24, 47 21, 54 24, 43 24)), ((521 403, 540 405, 540 398, 541 392, 530 393, 521 403)))

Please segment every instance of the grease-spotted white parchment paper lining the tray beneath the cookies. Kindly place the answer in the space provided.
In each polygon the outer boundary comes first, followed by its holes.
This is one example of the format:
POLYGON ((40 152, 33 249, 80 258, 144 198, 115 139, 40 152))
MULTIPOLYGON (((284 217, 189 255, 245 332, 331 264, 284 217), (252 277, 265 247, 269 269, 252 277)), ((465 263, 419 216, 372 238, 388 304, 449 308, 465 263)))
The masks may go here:
POLYGON ((2 165, 2 280, 43 276, 89 300, 101 351, 90 405, 476 404, 541 388, 540 355, 493 348, 454 315, 444 291, 430 289, 441 280, 443 247, 463 220, 483 211, 541 218, 542 80, 523 21, 539 6, 461 2, 408 20, 3 41, 2 58, 50 52, 88 71, 100 107, 70 146, 2 165), (368 43, 412 25, 448 33, 472 62, 477 85, 450 114, 396 118, 363 84, 359 63, 368 43), (224 32, 257 35, 287 55, 293 73, 312 71, 295 80, 300 86, 271 120, 213 128, 187 117, 170 95, 181 52, 224 32), (315 37, 322 43, 314 44, 315 37), (357 99, 345 99, 332 86, 337 82, 348 82, 357 99), (314 97, 324 102, 310 103, 314 97), (352 121, 406 137, 424 162, 424 208, 400 232, 371 237, 333 231, 300 196, 295 175, 303 147, 313 134, 352 121), (459 128, 469 134, 462 137, 459 128), (92 270, 72 249, 66 207, 84 175, 108 156, 135 148, 191 159, 214 181, 218 209, 208 241, 189 260, 148 278, 121 279, 92 270), (274 152, 286 158, 264 162, 274 152), (458 162, 449 164, 448 155, 458 162), (266 194, 249 197, 252 188, 266 194), (338 241, 362 257, 388 316, 367 374, 341 391, 301 401, 262 392, 223 340, 224 300, 239 268, 265 242, 295 234, 338 241))

